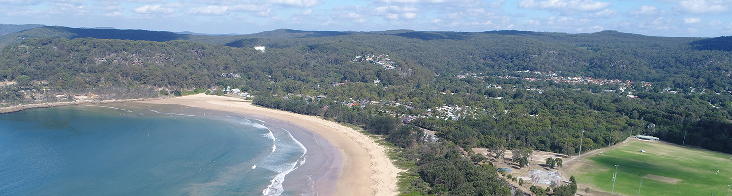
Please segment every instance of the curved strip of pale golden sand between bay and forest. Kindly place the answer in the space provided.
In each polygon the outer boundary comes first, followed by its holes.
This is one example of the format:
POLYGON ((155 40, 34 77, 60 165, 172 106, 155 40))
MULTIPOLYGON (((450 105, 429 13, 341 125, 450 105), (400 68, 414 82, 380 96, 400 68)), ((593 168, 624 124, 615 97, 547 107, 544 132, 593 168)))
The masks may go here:
MULTIPOLYGON (((257 115, 270 119, 288 122, 301 128, 311 130, 337 147, 341 154, 342 164, 333 195, 398 195, 396 168, 386 155, 386 148, 378 145, 373 138, 318 117, 295 114, 289 111, 266 109, 254 106, 251 102, 239 98, 214 95, 188 95, 143 103, 178 104, 229 111, 239 114, 257 115)), ((321 185, 323 186, 323 185, 321 185)), ((317 186, 316 186, 317 188, 317 186)))

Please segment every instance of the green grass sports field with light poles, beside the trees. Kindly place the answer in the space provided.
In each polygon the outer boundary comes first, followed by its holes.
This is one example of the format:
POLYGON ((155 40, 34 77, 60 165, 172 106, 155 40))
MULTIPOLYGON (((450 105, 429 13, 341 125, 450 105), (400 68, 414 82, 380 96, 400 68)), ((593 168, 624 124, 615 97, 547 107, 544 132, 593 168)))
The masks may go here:
MULTIPOLYGON (((610 192, 615 165, 615 193, 638 195, 727 195, 732 185, 730 154, 690 149, 662 142, 630 139, 626 144, 583 156, 565 168, 579 184, 610 192), (645 153, 639 152, 645 150, 645 153), (718 174, 717 170, 719 170, 718 174)), ((578 194, 584 194, 578 189, 578 194)))

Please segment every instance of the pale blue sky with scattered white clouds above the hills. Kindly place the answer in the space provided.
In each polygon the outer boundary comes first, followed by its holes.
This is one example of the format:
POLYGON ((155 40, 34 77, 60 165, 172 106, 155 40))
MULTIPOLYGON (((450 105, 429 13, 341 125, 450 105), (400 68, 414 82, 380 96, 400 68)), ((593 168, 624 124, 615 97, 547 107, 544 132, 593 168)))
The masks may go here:
POLYGON ((0 23, 204 34, 495 31, 732 35, 732 0, 0 0, 0 23))

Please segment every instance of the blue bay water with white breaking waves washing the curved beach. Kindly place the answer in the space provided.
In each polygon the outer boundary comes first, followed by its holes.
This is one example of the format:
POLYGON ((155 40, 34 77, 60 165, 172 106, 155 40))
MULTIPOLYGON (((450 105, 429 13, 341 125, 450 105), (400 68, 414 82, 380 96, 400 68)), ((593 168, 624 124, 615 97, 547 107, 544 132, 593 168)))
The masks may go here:
POLYGON ((340 154, 288 122, 115 103, 0 114, 0 195, 329 195, 340 154))

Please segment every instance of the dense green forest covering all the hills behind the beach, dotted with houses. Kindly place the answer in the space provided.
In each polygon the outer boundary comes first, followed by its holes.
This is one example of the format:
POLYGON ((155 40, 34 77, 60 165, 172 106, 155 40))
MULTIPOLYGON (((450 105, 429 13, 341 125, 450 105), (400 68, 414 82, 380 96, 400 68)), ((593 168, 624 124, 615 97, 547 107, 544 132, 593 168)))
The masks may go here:
POLYGON ((507 194, 496 168, 471 166, 485 159, 463 159, 458 147, 571 155, 580 138, 585 151, 646 134, 732 152, 732 52, 717 44, 729 37, 42 27, 1 38, 15 42, 0 53, 2 106, 237 88, 261 106, 384 135, 414 164, 403 192, 415 195, 507 194), (425 140, 415 126, 444 142, 425 140))

